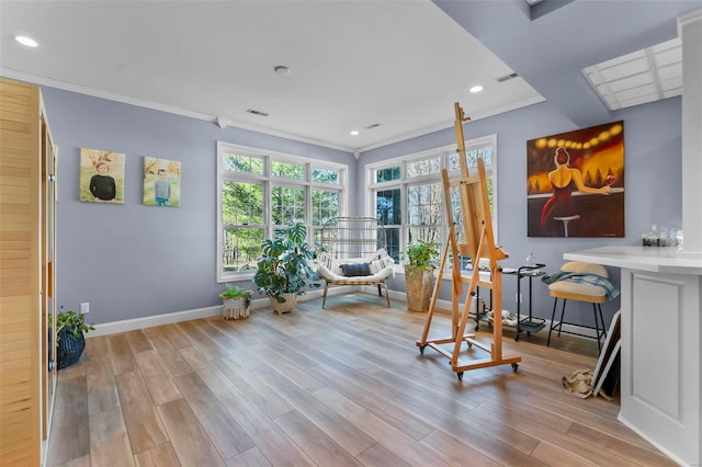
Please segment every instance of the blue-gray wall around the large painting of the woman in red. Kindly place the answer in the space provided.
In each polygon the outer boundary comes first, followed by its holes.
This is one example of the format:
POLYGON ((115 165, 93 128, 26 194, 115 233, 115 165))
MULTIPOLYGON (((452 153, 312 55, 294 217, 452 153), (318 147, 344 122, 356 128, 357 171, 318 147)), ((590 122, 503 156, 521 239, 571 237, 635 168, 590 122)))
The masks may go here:
MULTIPOLYGON (((448 107, 448 112, 451 109, 448 107)), ((466 111, 466 115, 469 113, 466 111)), ((526 237, 526 141, 540 136, 577 129, 548 102, 534 104, 489 118, 477 119, 465 125, 466 139, 497 134, 498 167, 498 239, 497 242, 510 254, 503 266, 518 267, 524 263, 529 252, 536 260, 555 271, 564 263, 563 253, 604 244, 641 244, 641 235, 649 230, 652 223, 659 226, 680 227, 682 219, 682 143, 681 100, 667 99, 652 104, 638 105, 611 114, 605 122, 624 121, 625 231, 623 239, 612 238, 529 238, 526 237)), ((450 145, 455 141, 453 128, 437 132, 411 140, 378 148, 360 158, 360 164, 376 162, 424 149, 450 145)), ((364 168, 359 168, 359 173, 364 168)), ((619 285, 619 269, 610 269, 613 282, 619 285)), ((404 288, 404 277, 398 275, 392 288, 404 288)), ((553 299, 544 284, 533 283, 534 315, 551 318, 553 299)), ((526 283, 522 284, 525 287, 526 283)), ((523 292, 523 306, 528 295, 523 292)), ((512 276, 502 278, 502 305, 516 311, 517 281, 512 276)), ((451 288, 442 285, 441 298, 451 298, 451 288)), ((580 307, 584 323, 590 323, 591 308, 580 307)), ((603 306, 604 319, 609 322, 619 309, 619 299, 603 306)), ((524 310, 524 308, 522 308, 524 310)), ((575 310, 574 310, 575 311, 575 310)), ((577 314, 573 314, 577 315, 577 314)), ((578 321, 573 316, 573 321, 578 321)))

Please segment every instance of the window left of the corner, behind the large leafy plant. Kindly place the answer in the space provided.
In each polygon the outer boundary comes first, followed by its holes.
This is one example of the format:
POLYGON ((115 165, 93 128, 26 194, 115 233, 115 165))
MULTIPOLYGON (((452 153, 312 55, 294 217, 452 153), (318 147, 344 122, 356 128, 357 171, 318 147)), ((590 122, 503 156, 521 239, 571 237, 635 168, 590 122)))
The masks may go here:
POLYGON ((217 160, 218 282, 251 275, 275 230, 299 221, 316 238, 346 205, 344 166, 222 141, 217 160))

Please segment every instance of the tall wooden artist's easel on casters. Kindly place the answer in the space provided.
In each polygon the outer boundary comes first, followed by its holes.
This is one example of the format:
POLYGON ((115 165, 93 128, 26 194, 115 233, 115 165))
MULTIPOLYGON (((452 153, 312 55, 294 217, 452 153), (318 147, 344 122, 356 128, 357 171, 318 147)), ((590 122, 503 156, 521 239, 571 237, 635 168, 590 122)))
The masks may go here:
MULTIPOLYGON (((449 238, 443 248, 441 257, 441 266, 434 285, 427 321, 420 341, 417 346, 420 353, 424 353, 424 349, 430 346, 440 354, 451 360, 451 368, 456 372, 458 380, 463 380, 463 372, 466 369, 484 368, 488 366, 511 364, 514 372, 519 367, 517 362, 521 362, 521 356, 502 355, 502 274, 499 261, 509 258, 502 249, 495 244, 495 236, 492 232, 492 220, 490 217, 490 205, 487 194, 487 183, 485 178, 485 163, 482 158, 477 159, 477 175, 468 173, 468 163, 465 156, 465 140, 463 137, 463 123, 469 121, 465 117, 463 109, 456 102, 454 104, 456 119, 454 129, 456 134, 456 143, 458 145, 458 158, 461 163, 461 176, 457 180, 449 180, 446 169, 441 171, 443 178, 444 205, 446 208, 446 219, 449 223, 449 238), (461 213, 463 219, 463 231, 465 232, 466 243, 458 243, 456 238, 456 223, 453 218, 451 209, 451 189, 457 187, 461 196, 461 213), (469 257, 473 264, 473 274, 471 277, 464 277, 461 274, 458 264, 458 251, 461 255, 469 257), (452 293, 451 293, 451 337, 443 339, 428 339, 431 328, 431 319, 434 314, 439 291, 444 271, 453 258, 453 267, 451 270, 452 293), (486 260, 489 263, 490 282, 480 281, 480 271, 478 265, 480 261, 486 260), (463 284, 468 284, 466 300, 463 311, 460 311, 461 295, 463 294, 463 284), (468 322, 471 305, 474 300, 476 287, 485 287, 492 291, 492 309, 495 310, 495 319, 492 322, 492 343, 490 346, 475 340, 475 334, 465 333, 468 322), (468 349, 473 345, 489 353, 488 358, 465 360, 461 358, 461 344, 466 342, 468 349), (449 352, 441 345, 453 344, 453 351, 449 352)), ((477 309, 477 307, 476 307, 477 309)), ((476 314, 476 319, 478 315, 476 314)))

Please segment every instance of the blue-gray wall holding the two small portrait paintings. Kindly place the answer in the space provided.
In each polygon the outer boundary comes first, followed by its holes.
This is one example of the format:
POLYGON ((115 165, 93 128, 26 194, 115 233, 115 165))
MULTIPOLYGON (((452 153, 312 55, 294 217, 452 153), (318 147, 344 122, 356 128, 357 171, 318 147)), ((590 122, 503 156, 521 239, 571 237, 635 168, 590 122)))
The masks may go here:
MULTIPOLYGON (((103 323, 220 304, 216 141, 353 166, 350 152, 52 88, 42 93, 59 147, 57 296, 103 323), (80 148, 126 155, 124 205, 78 201, 80 148), (180 207, 145 206, 144 156, 181 162, 180 207)), ((349 183, 356 183, 353 172, 349 183)), ((241 284, 253 288, 250 282, 241 284)))

